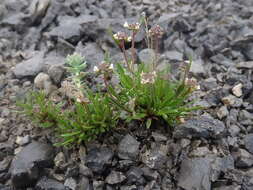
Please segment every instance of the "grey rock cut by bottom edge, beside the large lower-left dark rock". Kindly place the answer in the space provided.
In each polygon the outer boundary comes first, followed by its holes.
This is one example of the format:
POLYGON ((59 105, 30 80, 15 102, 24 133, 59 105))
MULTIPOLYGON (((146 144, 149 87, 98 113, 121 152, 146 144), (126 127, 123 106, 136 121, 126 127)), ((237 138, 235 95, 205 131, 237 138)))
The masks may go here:
POLYGON ((42 177, 35 186, 36 190, 67 190, 66 187, 60 182, 42 177))

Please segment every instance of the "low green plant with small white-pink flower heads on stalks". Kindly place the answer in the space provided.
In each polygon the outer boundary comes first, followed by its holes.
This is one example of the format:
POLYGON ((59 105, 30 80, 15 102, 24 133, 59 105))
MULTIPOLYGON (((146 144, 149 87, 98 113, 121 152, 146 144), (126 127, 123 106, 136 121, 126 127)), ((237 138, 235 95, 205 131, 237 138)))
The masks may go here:
POLYGON ((95 139, 117 126, 119 120, 129 122, 139 120, 150 128, 153 120, 164 120, 173 127, 199 107, 190 107, 188 96, 199 88, 197 81, 189 79, 191 61, 186 63, 180 80, 172 80, 169 67, 164 71, 157 69, 159 41, 163 36, 160 26, 148 28, 145 16, 140 23, 125 23, 130 32, 112 34, 124 56, 124 63, 113 65, 109 54, 105 60, 94 67, 94 72, 102 76, 105 91, 92 91, 85 83, 85 59, 73 54, 67 57, 66 65, 70 73, 69 83, 75 88, 74 99, 66 109, 61 104, 50 101, 43 92, 32 92, 26 102, 18 105, 23 113, 44 127, 55 127, 62 138, 58 145, 71 145, 95 139), (144 26, 146 42, 154 49, 151 64, 139 63, 136 58, 135 38, 144 26), (131 43, 128 57, 125 43, 131 43), (116 75, 119 84, 112 85, 116 75))

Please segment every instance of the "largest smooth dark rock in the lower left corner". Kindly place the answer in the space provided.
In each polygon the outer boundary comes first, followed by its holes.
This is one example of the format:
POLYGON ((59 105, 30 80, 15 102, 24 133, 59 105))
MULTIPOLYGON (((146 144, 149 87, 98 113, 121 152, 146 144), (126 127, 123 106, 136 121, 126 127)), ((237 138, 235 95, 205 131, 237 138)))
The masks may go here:
POLYGON ((10 167, 12 184, 16 188, 29 187, 39 179, 40 171, 51 167, 54 149, 49 144, 32 142, 13 159, 10 167))

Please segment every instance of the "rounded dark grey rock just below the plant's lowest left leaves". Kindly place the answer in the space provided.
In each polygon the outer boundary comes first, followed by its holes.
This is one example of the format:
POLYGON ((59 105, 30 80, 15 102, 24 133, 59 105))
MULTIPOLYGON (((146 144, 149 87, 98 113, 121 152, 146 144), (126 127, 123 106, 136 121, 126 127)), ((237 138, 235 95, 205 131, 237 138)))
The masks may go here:
POLYGON ((86 165, 95 173, 103 173, 112 162, 113 152, 106 147, 92 148, 86 156, 86 165))

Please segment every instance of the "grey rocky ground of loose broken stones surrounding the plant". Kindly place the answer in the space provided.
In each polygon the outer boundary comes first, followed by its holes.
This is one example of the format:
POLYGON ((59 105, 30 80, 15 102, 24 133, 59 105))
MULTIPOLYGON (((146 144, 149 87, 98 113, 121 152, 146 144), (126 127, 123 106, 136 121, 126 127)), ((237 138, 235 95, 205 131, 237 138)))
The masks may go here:
MULTIPOLYGON (((1 0, 0 189, 252 190, 252 15, 252 0, 1 0), (122 30, 143 11, 166 30, 161 65, 177 71, 193 55, 201 91, 192 98, 207 109, 172 133, 132 123, 53 147, 49 130, 15 112, 16 100, 34 83, 58 91, 67 54, 81 53, 90 68, 106 50, 122 59, 107 28, 122 30)), ((138 56, 147 60, 143 37, 138 56)))

